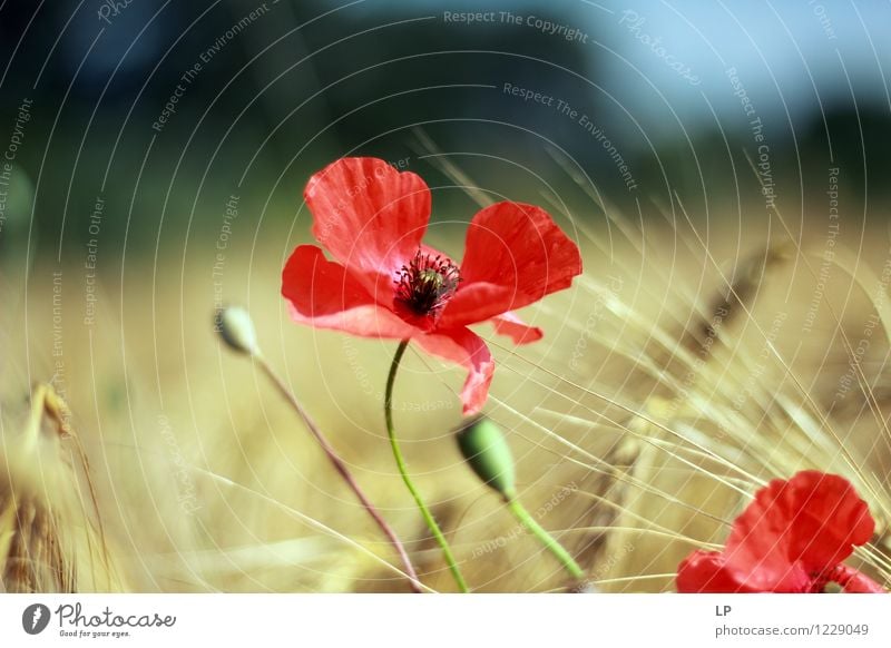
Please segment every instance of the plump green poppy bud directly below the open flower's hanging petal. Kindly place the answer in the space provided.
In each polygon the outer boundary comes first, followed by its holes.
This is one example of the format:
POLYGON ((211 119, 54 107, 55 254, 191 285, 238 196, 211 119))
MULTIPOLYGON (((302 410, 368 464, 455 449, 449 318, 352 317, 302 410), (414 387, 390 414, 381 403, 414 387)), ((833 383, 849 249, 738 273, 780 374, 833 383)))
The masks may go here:
POLYGON ((471 419, 458 430, 458 446, 477 477, 506 500, 516 497, 513 456, 498 425, 484 416, 471 419))

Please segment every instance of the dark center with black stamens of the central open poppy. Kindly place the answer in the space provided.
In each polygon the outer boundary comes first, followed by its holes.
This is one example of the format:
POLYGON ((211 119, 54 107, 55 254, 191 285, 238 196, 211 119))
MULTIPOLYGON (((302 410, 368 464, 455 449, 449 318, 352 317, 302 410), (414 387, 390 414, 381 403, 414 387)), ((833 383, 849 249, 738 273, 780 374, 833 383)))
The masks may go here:
POLYGON ((457 265, 442 255, 433 256, 419 249, 396 273, 395 298, 417 315, 437 315, 458 289, 460 281, 457 265))

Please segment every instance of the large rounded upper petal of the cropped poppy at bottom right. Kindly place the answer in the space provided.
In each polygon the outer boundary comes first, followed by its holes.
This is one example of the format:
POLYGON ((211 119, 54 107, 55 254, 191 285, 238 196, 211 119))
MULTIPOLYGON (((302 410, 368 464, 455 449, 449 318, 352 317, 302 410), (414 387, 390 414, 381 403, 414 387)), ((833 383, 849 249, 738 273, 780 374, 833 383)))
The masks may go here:
POLYGON ((804 471, 774 480, 734 522, 727 564, 750 585, 774 591, 806 587, 807 573, 838 566, 872 537, 866 503, 844 478, 804 471))

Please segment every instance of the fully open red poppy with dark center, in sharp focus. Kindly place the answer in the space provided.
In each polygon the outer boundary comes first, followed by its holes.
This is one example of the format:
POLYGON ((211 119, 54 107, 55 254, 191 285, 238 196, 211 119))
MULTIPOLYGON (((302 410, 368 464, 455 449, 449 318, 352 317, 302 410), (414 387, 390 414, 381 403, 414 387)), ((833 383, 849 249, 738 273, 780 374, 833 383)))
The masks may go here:
POLYGON ((282 273, 295 322, 364 337, 415 341, 458 363, 468 377, 464 414, 478 412, 495 363, 468 328, 491 322, 517 344, 541 330, 511 313, 566 288, 581 272, 578 247, 541 208, 498 203, 467 232, 460 265, 424 245, 430 189, 412 173, 375 158, 343 158, 315 174, 304 190, 314 245, 298 246, 282 273))

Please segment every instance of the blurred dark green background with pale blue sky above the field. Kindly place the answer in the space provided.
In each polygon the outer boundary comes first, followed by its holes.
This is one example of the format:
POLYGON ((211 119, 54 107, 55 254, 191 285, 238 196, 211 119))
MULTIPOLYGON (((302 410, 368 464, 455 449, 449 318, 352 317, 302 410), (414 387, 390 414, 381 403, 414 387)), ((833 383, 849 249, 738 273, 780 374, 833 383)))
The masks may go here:
MULTIPOLYGON (((4 2, 0 139, 32 105, 0 246, 82 256, 97 196, 104 269, 187 254, 205 230, 213 246, 231 195, 239 238, 302 235, 302 187, 339 156, 410 158, 451 185, 421 157, 418 126, 486 190, 559 194, 579 218, 603 215, 557 157, 634 218, 679 217, 678 195, 697 218, 763 223, 746 158, 762 144, 793 220, 825 212, 829 167, 848 213, 885 218, 889 16, 738 0, 4 2)), ((473 210, 446 189, 435 207, 473 210)))

